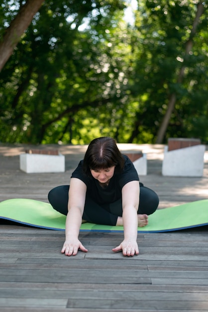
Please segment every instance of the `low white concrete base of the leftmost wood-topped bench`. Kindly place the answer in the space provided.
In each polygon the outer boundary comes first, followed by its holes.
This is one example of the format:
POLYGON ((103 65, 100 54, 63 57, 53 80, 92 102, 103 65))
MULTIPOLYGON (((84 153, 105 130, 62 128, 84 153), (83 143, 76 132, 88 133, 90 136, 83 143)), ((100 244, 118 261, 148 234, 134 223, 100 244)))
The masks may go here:
POLYGON ((26 173, 64 172, 65 156, 42 155, 42 154, 20 154, 20 170, 26 173))

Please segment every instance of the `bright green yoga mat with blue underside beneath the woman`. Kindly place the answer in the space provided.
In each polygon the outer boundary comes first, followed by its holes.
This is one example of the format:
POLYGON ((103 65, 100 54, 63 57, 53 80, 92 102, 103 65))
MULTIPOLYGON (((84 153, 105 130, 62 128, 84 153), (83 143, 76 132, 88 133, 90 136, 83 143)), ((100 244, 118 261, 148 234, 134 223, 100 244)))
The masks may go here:
MULTIPOLYGON (((0 202, 0 219, 52 230, 65 230, 66 216, 57 212, 49 203, 15 198, 0 202)), ((208 199, 158 209, 149 216, 149 224, 138 227, 138 232, 167 232, 208 225, 208 199)), ((122 226, 84 223, 81 231, 123 231, 122 226)))

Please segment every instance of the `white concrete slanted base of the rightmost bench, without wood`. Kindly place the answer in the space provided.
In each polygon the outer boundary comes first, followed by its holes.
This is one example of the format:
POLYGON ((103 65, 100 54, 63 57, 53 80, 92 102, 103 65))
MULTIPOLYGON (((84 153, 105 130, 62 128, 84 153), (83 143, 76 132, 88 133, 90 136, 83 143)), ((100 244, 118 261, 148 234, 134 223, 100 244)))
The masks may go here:
POLYGON ((205 145, 168 151, 164 148, 162 175, 203 176, 205 145))

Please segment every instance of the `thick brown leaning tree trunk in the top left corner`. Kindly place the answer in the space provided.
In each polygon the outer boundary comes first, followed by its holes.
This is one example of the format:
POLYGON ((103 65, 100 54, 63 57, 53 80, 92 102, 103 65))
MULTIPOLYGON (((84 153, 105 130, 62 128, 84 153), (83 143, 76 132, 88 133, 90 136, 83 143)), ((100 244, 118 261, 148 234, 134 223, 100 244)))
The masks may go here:
POLYGON ((24 31, 30 25, 33 16, 39 10, 43 1, 44 0, 27 0, 6 29, 2 41, 0 42, 0 71, 11 56, 13 49, 16 47, 24 31))

